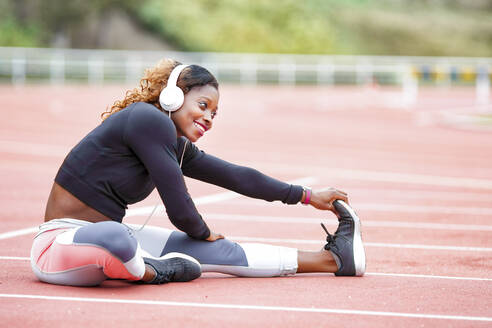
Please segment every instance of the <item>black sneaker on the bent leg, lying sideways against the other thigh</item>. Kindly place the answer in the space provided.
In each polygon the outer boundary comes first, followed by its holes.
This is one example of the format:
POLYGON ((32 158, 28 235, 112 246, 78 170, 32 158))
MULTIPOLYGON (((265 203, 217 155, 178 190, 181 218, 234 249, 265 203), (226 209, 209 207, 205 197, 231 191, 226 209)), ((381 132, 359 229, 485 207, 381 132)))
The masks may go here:
POLYGON ((196 279, 202 274, 202 267, 193 257, 181 253, 168 253, 159 258, 144 257, 144 263, 150 265, 156 276, 149 284, 184 282, 196 279))

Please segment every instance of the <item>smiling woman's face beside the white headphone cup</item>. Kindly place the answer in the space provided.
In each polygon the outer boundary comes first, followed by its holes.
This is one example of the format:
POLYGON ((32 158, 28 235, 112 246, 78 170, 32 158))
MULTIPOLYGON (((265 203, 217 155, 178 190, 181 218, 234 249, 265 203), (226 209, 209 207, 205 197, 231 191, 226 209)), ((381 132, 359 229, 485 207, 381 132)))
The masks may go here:
POLYGON ((211 85, 192 88, 184 97, 183 106, 171 113, 178 137, 197 141, 212 128, 217 114, 219 91, 211 85))

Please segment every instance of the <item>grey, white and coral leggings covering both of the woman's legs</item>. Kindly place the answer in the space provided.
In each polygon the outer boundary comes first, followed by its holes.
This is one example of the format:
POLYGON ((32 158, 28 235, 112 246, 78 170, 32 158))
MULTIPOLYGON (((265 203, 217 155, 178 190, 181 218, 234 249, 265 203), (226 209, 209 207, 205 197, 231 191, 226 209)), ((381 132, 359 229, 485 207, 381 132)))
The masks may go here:
POLYGON ((158 258, 171 252, 192 256, 200 262, 203 272, 220 272, 241 277, 274 277, 297 271, 297 249, 294 248, 256 243, 239 244, 228 239, 208 242, 192 239, 181 231, 155 226, 145 226, 140 230, 137 225, 123 225, 112 221, 91 223, 75 219, 57 219, 40 226, 40 233, 33 243, 31 266, 41 281, 87 286, 97 285, 107 278, 138 280, 143 275, 142 257, 158 258), (43 240, 44 234, 53 233, 55 229, 63 232, 55 236, 50 246, 43 245, 47 243, 45 241, 37 242, 43 240), (43 251, 42 256, 56 256, 56 261, 51 261, 58 262, 58 268, 49 268, 46 263, 50 259, 39 255, 39 250, 44 247, 57 247, 51 253, 43 251), (94 260, 92 263, 89 258, 84 260, 84 265, 66 267, 63 257, 73 258, 73 254, 79 254, 77 251, 83 247, 89 248, 89 253, 92 249, 104 251, 116 260, 94 260), (121 276, 121 268, 129 272, 131 278, 121 276))

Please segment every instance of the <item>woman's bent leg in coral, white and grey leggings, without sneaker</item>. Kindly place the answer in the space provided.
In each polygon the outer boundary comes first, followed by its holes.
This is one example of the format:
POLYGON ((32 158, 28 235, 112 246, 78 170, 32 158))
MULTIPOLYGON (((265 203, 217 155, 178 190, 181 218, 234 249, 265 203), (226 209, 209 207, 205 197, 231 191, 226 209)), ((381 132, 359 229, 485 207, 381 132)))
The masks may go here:
POLYGON ((98 285, 108 277, 139 280, 145 273, 132 231, 109 221, 38 235, 31 264, 39 280, 72 286, 98 285))

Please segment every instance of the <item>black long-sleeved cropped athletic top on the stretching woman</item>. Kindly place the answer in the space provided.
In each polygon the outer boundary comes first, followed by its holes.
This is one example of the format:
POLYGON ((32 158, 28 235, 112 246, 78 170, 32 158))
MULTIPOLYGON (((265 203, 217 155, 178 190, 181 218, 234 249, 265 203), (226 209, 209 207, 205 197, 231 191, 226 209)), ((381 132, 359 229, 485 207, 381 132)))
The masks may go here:
POLYGON ((118 222, 128 204, 143 200, 157 187, 171 222, 197 239, 208 238, 210 230, 188 194, 183 174, 253 198, 286 204, 301 200, 301 186, 228 163, 186 141, 177 137, 174 123, 158 108, 134 103, 83 138, 65 158, 55 181, 118 222))

